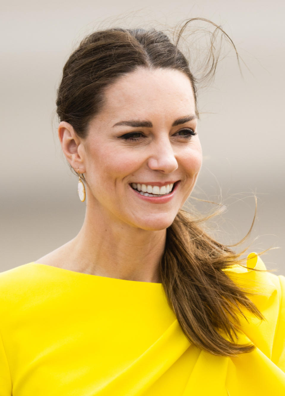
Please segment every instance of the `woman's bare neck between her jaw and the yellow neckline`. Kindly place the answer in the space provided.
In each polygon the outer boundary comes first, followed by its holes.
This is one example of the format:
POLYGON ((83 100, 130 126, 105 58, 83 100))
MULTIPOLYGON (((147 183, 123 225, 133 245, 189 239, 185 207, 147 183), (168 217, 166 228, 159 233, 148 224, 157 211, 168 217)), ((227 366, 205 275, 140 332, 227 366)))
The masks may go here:
POLYGON ((143 230, 94 213, 87 206, 80 232, 68 243, 69 263, 93 275, 161 282, 158 270, 165 237, 165 229, 143 230))

